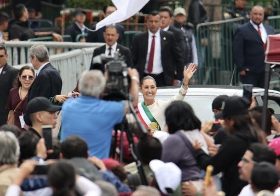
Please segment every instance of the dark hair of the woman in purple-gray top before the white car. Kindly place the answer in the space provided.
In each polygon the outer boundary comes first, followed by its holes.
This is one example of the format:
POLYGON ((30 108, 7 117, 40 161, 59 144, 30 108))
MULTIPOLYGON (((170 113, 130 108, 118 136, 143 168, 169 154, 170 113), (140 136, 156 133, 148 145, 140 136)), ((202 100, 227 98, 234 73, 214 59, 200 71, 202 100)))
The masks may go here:
POLYGON ((194 114, 192 107, 183 101, 174 101, 166 108, 165 121, 171 134, 178 130, 201 129, 201 121, 194 114))

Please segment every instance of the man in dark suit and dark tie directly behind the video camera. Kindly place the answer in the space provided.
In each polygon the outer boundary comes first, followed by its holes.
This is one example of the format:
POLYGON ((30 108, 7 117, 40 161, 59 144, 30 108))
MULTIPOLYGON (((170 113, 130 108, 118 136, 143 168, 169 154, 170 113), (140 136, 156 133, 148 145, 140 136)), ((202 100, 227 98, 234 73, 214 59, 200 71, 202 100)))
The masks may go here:
POLYGON ((106 27, 103 35, 106 44, 93 51, 90 69, 99 69, 104 72, 104 67, 98 68, 94 66, 93 58, 100 54, 105 54, 108 57, 114 57, 116 51, 125 57, 125 62, 128 67, 133 67, 130 50, 116 42, 119 37, 116 27, 113 25, 106 27))

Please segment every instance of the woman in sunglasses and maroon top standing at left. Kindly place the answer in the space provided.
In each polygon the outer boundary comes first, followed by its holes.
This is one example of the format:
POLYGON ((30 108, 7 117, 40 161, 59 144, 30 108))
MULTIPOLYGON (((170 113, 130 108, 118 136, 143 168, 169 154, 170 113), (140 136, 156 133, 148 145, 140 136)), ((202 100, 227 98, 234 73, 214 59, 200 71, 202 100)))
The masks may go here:
POLYGON ((14 124, 21 130, 24 129, 23 114, 26 112, 28 91, 34 82, 35 71, 30 66, 23 66, 18 72, 15 88, 9 93, 6 109, 9 110, 8 124, 14 124), (14 118, 14 119, 13 119, 14 118))

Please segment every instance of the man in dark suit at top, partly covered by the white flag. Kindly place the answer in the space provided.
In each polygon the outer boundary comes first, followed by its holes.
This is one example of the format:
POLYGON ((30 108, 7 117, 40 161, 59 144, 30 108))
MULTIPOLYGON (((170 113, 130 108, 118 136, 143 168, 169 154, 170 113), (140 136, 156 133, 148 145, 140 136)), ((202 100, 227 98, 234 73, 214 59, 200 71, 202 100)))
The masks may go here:
MULTIPOLYGON (((113 13, 114 11, 116 11, 116 7, 114 5, 106 5, 103 9, 104 11, 104 16, 107 17, 108 15, 110 15, 111 13, 113 13)), ((125 38, 125 27, 123 25, 119 25, 119 24, 114 24, 116 26, 117 32, 119 34, 117 43, 118 44, 122 44, 124 38, 125 38)), ((93 24, 90 29, 95 30, 96 24, 93 24)), ((105 32, 106 27, 102 27, 100 29, 98 29, 97 31, 94 32, 89 32, 88 36, 87 36, 87 40, 86 42, 99 42, 99 43, 104 43, 104 36, 103 33, 105 32)))

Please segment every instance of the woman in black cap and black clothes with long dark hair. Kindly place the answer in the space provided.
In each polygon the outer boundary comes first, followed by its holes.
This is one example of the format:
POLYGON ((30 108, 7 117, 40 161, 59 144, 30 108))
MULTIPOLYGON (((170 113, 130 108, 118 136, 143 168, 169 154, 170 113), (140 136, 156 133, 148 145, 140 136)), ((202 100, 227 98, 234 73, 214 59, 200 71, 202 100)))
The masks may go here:
POLYGON ((239 180, 237 165, 248 146, 254 142, 264 141, 251 121, 248 113, 249 105, 246 99, 238 96, 229 97, 223 102, 222 111, 215 117, 216 119, 223 118, 224 127, 229 134, 216 155, 209 156, 201 149, 199 143, 194 144, 196 160, 202 169, 212 165, 213 174, 224 173, 223 186, 228 196, 238 195, 246 185, 245 182, 239 180))

